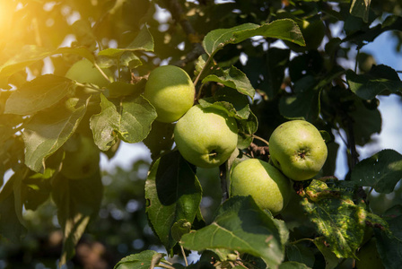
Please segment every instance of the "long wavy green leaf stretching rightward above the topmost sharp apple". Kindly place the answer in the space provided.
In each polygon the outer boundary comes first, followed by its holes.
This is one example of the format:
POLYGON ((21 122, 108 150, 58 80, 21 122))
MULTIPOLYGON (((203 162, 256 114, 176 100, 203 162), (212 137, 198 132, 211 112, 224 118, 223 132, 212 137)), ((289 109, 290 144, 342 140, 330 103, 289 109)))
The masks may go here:
POLYGON ((284 39, 305 46, 297 23, 290 19, 284 19, 263 25, 244 23, 230 29, 212 30, 206 34, 203 47, 209 56, 213 56, 227 44, 237 44, 255 36, 284 39))

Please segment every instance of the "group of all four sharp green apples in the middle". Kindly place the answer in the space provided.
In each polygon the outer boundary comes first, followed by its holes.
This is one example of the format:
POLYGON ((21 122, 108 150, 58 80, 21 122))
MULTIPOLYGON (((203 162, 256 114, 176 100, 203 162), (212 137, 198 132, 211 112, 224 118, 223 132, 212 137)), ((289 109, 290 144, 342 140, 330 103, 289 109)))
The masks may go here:
MULTIPOLYGON (((156 120, 177 122, 174 141, 188 162, 214 168, 237 148, 238 126, 222 109, 194 105, 195 87, 181 68, 155 68, 144 97, 155 108, 156 120)), ((280 213, 290 200, 292 180, 310 179, 327 160, 327 145, 319 130, 304 120, 278 126, 269 139, 270 161, 249 159, 232 167, 231 195, 251 195, 263 209, 280 213)))

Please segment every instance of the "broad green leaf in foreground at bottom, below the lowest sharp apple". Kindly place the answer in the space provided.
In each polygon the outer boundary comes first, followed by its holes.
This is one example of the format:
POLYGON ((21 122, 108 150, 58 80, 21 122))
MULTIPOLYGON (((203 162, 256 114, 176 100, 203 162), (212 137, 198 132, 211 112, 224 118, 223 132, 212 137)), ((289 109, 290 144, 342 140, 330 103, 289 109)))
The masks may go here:
POLYGON ((250 196, 227 200, 216 213, 214 222, 181 238, 191 250, 225 248, 260 256, 267 266, 284 260, 284 241, 288 231, 282 222, 263 212, 250 196))

